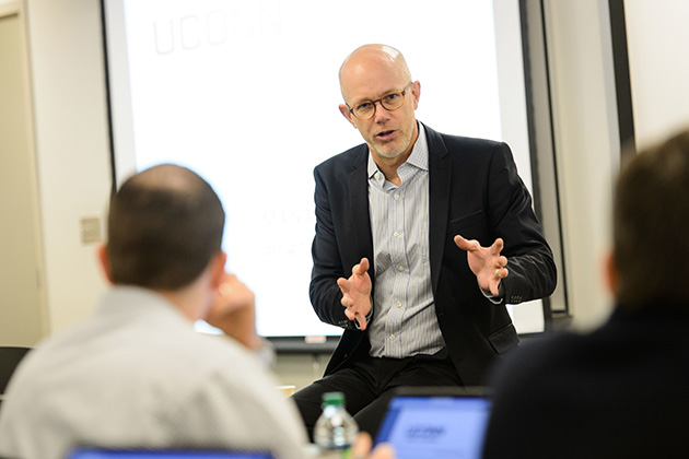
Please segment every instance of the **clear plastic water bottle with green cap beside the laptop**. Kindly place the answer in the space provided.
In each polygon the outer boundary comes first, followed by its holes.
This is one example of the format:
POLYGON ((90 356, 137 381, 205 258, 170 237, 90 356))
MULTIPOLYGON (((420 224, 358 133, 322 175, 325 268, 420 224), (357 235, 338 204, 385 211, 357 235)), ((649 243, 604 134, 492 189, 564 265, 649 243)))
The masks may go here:
POLYGON ((344 409, 342 392, 323 395, 323 414, 314 427, 314 442, 318 445, 323 458, 350 457, 351 445, 357 439, 359 426, 344 409))

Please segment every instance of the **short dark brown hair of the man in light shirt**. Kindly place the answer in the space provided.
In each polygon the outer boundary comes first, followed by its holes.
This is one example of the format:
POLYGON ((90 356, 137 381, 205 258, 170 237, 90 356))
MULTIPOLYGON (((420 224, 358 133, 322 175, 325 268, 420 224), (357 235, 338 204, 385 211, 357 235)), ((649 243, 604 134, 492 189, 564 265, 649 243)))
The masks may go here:
POLYGON ((108 216, 113 282, 178 290, 221 250, 225 212, 199 175, 172 164, 133 175, 113 197, 108 216))

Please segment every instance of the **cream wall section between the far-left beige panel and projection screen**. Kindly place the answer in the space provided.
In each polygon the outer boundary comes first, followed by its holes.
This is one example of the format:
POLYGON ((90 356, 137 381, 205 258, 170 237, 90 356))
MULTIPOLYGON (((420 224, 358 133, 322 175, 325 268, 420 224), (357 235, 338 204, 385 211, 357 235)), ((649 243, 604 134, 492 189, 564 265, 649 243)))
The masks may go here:
POLYGON ((83 318, 105 289, 83 216, 110 186, 100 2, 28 0, 35 144, 49 331, 83 318))

